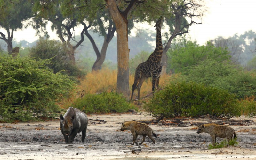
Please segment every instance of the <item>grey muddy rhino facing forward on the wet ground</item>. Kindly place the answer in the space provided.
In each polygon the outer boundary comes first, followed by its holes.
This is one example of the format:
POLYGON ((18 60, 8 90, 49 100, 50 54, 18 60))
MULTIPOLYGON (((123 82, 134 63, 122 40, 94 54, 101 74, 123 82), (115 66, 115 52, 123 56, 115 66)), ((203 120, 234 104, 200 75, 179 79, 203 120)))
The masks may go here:
POLYGON ((87 115, 77 108, 70 107, 64 116, 60 115, 60 129, 66 143, 73 143, 79 132, 82 132, 82 142, 84 142, 87 125, 87 115))

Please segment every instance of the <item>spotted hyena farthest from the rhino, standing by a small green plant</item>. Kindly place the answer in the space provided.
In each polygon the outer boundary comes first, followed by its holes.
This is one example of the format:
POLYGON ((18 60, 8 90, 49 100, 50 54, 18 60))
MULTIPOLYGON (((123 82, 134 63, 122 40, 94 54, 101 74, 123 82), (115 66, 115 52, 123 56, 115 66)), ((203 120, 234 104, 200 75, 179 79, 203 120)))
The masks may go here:
POLYGON ((197 125, 198 129, 196 133, 209 133, 212 137, 212 145, 215 146, 216 137, 226 138, 228 142, 232 139, 232 137, 236 138, 236 132, 233 128, 229 126, 217 125, 215 123, 208 123, 204 125, 197 125))

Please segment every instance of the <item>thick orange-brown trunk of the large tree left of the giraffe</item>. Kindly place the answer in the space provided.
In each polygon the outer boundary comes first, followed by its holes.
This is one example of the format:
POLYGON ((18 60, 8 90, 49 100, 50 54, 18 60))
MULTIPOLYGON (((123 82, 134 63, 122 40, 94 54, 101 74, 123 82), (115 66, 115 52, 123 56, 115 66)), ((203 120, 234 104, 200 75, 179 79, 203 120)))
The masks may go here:
POLYGON ((117 93, 123 93, 129 99, 129 48, 128 21, 120 14, 116 0, 107 0, 108 10, 116 25, 117 33, 117 93))

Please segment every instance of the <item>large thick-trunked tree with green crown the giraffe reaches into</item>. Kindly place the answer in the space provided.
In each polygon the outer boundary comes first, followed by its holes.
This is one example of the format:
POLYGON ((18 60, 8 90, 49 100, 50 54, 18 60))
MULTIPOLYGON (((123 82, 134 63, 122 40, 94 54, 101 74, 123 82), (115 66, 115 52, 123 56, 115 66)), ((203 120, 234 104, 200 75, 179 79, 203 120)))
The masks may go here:
MULTIPOLYGON (((110 15, 116 25, 117 33, 117 92, 123 93, 129 98, 129 52, 128 48, 128 16, 133 12, 133 16, 138 19, 160 18, 166 11, 168 1, 121 1, 106 0, 110 15), (123 3, 122 3, 123 2, 123 3), (161 8, 161 10, 159 10, 161 8)), ((150 19, 152 20, 152 19, 150 19)))

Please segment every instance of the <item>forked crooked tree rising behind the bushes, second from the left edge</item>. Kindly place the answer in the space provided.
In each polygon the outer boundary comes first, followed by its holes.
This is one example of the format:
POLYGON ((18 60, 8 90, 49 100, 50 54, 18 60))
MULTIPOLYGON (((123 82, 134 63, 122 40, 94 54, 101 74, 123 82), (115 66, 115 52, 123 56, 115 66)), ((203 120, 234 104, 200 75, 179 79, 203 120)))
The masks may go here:
MULTIPOLYGON (((63 15, 61 11, 61 1, 54 1, 48 4, 49 6, 42 5, 40 1, 36 1, 34 5, 34 11, 38 11, 37 15, 34 17, 34 22, 37 25, 33 25, 33 28, 45 32, 45 27, 48 21, 52 22, 52 30, 56 30, 56 34, 60 38, 63 46, 68 50, 68 55, 71 64, 75 65, 75 50, 84 41, 84 31, 89 27, 84 23, 79 23, 77 20, 77 12, 72 12, 72 15, 63 15), (71 44, 71 39, 75 33, 75 27, 82 24, 84 27, 80 33, 80 40, 76 42, 75 45, 71 44), (73 30, 73 31, 72 31, 73 30)), ((47 34, 47 33, 45 33, 47 34)))

